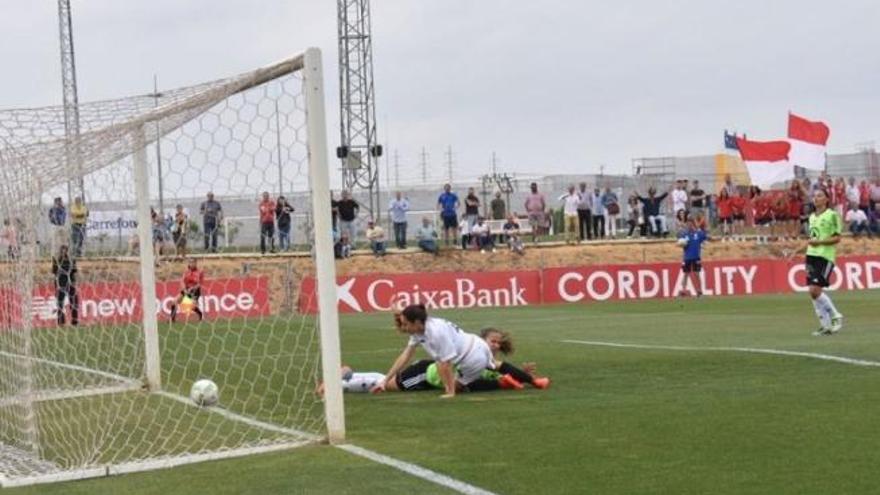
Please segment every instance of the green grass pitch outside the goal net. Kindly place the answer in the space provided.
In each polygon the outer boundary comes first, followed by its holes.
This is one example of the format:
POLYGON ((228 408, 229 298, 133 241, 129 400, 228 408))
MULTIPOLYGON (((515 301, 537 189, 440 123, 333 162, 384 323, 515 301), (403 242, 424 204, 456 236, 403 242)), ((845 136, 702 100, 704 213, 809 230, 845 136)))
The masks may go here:
MULTIPOLYGON (((472 331, 510 330, 514 360, 536 361, 553 386, 453 401, 350 394, 348 439, 496 493, 876 493, 880 367, 562 341, 880 361, 878 296, 833 295, 846 327, 821 338, 806 295, 438 313, 472 331)), ((385 371, 405 342, 385 314, 346 315, 342 332, 343 361, 365 371, 385 371)), ((327 446, 7 491, 448 493, 327 446)))

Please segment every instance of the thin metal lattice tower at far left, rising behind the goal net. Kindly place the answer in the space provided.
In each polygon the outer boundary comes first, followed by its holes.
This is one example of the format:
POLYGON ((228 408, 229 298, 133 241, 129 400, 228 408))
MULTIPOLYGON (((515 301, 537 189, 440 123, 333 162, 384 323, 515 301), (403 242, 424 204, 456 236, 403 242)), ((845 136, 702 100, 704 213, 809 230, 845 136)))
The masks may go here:
MULTIPOLYGON (((58 0, 58 34, 61 46, 61 91, 64 97, 64 135, 67 142, 79 137, 79 97, 76 92, 76 61, 73 50, 73 21, 70 14, 70 0, 58 0)), ((68 174, 76 170, 76 188, 85 201, 85 187, 79 163, 79 150, 68 148, 65 153, 68 174)), ((67 183, 67 201, 73 202, 73 186, 67 183)))

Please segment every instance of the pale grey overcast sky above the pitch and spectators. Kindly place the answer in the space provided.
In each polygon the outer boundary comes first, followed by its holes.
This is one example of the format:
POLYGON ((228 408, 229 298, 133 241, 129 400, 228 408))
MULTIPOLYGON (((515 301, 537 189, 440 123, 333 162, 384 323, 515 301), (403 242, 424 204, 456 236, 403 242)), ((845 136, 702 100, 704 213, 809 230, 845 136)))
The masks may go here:
MULTIPOLYGON (((0 11, 0 108, 61 100, 56 2, 0 11)), ((72 0, 81 101, 243 72, 318 46, 339 140, 336 2, 72 0)), ((831 127, 830 152, 880 141, 880 2, 374 0, 379 134, 404 179, 426 146, 456 174, 630 171, 719 151, 722 130, 831 127)))

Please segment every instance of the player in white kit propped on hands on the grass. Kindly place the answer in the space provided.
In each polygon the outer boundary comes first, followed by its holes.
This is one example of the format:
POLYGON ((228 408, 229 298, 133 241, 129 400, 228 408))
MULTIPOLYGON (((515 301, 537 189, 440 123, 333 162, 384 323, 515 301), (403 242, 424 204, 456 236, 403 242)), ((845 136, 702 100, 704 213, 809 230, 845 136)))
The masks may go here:
MULTIPOLYGON (((479 379, 484 370, 495 368, 492 351, 485 340, 463 331, 451 321, 429 317, 424 305, 404 308, 398 328, 410 336, 409 343, 385 373, 386 377, 396 377, 409 364, 418 346, 437 363, 443 398, 455 397, 457 385, 467 386, 479 379)), ((386 384, 386 380, 376 384, 373 392, 384 391, 386 384)))

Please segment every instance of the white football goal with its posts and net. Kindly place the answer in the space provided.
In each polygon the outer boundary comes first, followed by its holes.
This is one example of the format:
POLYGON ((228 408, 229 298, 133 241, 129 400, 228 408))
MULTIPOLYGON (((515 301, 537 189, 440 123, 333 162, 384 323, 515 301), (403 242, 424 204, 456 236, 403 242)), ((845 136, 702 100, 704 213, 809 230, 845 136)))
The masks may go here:
POLYGON ((0 110, 0 484, 342 438, 322 85, 310 49, 0 110), (305 275, 317 317, 296 313, 305 275), (215 405, 190 399, 200 379, 215 405))

